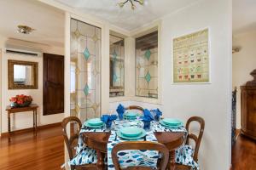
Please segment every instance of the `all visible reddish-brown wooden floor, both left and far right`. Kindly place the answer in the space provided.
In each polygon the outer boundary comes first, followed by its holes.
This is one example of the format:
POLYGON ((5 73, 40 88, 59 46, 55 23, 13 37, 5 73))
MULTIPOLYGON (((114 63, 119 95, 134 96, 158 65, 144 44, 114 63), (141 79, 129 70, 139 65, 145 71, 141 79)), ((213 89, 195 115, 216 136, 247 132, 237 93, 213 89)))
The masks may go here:
MULTIPOLYGON (((57 170, 64 160, 61 127, 40 129, 33 133, 15 134, 11 142, 0 139, 1 170, 57 170)), ((238 136, 232 150, 233 170, 256 170, 256 142, 238 136)))

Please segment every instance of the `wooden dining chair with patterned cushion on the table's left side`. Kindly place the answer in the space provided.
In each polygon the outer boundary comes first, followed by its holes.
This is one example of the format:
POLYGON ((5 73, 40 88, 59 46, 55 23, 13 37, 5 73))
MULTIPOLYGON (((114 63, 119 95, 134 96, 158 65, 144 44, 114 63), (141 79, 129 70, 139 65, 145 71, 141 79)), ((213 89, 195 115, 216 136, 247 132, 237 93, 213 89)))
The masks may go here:
MULTIPOLYGON (((63 119, 63 121, 61 122, 61 127, 62 127, 62 135, 64 137, 64 141, 65 144, 67 146, 67 151, 68 151, 68 156, 70 161, 73 161, 73 159, 78 158, 79 154, 82 154, 83 156, 87 156, 86 160, 93 160, 96 161, 96 156, 94 156, 94 154, 96 154, 95 150, 92 150, 90 148, 84 148, 83 150, 81 150, 81 153, 76 155, 76 146, 78 144, 78 140, 79 140, 79 131, 82 127, 82 123, 79 120, 78 117, 76 116, 69 116, 63 119), (67 126, 69 126, 70 128, 70 137, 68 137, 67 134, 67 126), (89 153, 89 154, 87 154, 89 153), (90 159, 89 157, 90 156, 90 159), (94 156, 94 157, 91 157, 94 156)), ((81 155, 81 156, 82 156, 81 155)), ((78 160, 79 162, 79 160, 78 160)), ((95 169, 96 168, 96 163, 92 163, 90 161, 84 163, 84 164, 78 164, 78 165, 70 165, 71 170, 74 169, 95 169)))

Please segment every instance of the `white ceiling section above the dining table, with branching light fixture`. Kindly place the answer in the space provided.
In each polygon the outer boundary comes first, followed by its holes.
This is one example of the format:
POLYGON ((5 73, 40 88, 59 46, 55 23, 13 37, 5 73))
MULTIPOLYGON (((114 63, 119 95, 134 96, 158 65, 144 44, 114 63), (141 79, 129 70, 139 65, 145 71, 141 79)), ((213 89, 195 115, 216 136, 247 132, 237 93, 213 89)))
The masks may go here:
POLYGON ((131 3, 126 3, 124 8, 119 8, 118 3, 125 2, 125 0, 55 1, 76 8, 85 14, 108 20, 114 26, 131 31, 199 0, 145 0, 144 6, 137 3, 135 10, 131 9, 131 3))

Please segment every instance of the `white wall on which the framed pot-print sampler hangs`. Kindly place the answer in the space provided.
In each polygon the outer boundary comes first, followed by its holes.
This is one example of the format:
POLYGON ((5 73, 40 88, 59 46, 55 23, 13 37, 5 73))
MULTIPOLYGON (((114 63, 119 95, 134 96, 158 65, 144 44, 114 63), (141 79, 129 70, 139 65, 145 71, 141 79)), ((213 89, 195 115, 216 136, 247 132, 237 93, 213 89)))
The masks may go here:
POLYGON ((230 168, 231 1, 200 1, 162 20, 164 116, 201 116, 206 128, 199 151, 201 169, 230 168), (172 39, 209 28, 211 83, 172 84, 172 39))

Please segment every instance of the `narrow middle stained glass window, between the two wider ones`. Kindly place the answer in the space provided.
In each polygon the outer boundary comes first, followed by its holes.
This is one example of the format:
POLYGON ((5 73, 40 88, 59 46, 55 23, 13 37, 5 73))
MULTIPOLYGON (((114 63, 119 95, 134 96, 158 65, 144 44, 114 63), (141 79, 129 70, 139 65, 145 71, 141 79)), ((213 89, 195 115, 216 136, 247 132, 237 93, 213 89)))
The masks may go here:
POLYGON ((109 96, 125 95, 125 41, 122 37, 109 36, 109 96))

